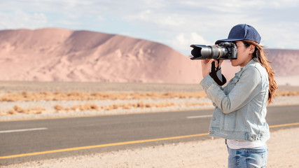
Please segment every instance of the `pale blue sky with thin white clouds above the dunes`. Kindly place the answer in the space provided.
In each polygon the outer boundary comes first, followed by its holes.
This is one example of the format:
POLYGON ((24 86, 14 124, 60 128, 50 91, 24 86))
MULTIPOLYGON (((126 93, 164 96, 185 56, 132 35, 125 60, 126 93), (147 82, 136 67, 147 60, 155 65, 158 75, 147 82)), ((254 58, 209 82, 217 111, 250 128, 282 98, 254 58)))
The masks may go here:
POLYGON ((298 0, 0 0, 1 29, 121 34, 163 43, 190 55, 190 44, 213 45, 246 23, 267 48, 299 50, 298 0))

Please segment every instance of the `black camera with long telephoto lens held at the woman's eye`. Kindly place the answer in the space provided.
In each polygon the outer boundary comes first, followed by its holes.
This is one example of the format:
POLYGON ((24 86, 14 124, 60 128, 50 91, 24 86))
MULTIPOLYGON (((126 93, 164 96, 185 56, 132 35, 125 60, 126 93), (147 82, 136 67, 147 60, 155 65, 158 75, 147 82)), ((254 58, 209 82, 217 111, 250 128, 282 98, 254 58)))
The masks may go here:
POLYGON ((190 45, 193 48, 190 59, 237 59, 237 45, 222 42, 218 45, 190 45))

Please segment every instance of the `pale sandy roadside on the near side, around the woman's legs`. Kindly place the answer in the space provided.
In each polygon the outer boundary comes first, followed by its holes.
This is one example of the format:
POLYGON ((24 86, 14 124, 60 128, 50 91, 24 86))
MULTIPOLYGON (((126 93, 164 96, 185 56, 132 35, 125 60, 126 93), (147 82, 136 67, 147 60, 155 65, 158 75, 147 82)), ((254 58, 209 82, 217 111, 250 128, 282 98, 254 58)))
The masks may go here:
MULTIPOLYGON (((267 167, 299 167, 299 128, 272 132, 267 167), (295 133, 295 134, 294 134, 295 133), (281 137, 284 137, 281 139, 281 137)), ((190 141, 125 151, 25 162, 13 167, 227 167, 223 139, 190 141)))

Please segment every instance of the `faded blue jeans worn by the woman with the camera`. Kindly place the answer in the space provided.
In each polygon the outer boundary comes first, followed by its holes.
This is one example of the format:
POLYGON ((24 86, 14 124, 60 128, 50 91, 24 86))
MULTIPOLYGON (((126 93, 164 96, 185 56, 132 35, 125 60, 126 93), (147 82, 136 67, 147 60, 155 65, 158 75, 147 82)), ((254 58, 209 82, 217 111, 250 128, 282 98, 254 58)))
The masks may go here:
POLYGON ((228 168, 266 167, 267 145, 258 148, 228 148, 228 168))

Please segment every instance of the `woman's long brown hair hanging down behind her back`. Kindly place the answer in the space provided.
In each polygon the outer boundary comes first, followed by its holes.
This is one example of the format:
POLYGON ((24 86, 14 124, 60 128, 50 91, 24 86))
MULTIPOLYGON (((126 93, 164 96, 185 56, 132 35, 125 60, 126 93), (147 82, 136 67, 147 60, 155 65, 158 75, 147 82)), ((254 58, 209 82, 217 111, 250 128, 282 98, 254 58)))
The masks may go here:
POLYGON ((275 92, 277 90, 277 83, 274 80, 274 71, 272 69, 272 67, 270 66, 270 62, 266 55, 265 52, 263 50, 263 48, 265 48, 264 46, 260 45, 259 43, 256 43, 254 41, 243 41, 244 45, 246 46, 246 48, 248 48, 250 45, 254 45, 256 47, 256 49, 253 52, 252 58, 259 62, 267 71, 268 73, 268 78, 269 78, 269 97, 268 97, 268 104, 273 102, 274 96, 275 96, 275 92))

